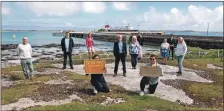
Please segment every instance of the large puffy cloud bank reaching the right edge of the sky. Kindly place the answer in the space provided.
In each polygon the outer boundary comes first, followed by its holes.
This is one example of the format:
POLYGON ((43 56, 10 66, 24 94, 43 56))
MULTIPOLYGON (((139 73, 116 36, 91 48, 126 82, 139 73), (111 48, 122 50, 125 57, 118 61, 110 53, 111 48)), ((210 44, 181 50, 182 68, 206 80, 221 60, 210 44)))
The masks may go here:
POLYGON ((148 23, 151 29, 160 25, 160 29, 183 29, 205 31, 207 21, 210 21, 211 31, 223 31, 223 6, 209 9, 202 6, 190 5, 187 13, 183 13, 177 8, 172 8, 169 12, 160 13, 156 8, 150 7, 148 12, 137 17, 138 22, 148 23))

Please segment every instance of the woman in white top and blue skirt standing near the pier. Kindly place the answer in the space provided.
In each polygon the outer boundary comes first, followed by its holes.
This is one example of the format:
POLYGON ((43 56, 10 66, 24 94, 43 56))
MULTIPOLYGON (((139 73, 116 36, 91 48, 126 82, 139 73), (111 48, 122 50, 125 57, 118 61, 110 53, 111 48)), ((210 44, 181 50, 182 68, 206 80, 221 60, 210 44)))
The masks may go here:
POLYGON ((160 48, 160 54, 162 56, 162 64, 166 65, 167 58, 169 57, 170 45, 167 43, 167 39, 163 40, 160 48))

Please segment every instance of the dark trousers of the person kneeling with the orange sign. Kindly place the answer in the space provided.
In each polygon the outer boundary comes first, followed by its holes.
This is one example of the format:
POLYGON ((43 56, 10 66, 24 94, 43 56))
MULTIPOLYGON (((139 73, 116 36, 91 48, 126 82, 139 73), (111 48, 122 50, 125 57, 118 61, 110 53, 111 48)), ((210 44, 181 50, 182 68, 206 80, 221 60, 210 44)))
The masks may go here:
POLYGON ((103 74, 91 74, 91 84, 98 92, 109 92, 109 87, 103 77, 103 74))

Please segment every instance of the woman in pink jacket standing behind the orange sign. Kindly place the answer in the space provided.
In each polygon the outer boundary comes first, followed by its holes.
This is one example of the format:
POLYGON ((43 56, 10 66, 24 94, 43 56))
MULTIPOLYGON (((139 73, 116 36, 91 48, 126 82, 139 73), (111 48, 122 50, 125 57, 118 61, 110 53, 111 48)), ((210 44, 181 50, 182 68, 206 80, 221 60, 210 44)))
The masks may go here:
POLYGON ((89 59, 91 59, 95 53, 94 42, 91 33, 89 33, 88 36, 86 37, 86 47, 89 53, 89 59))

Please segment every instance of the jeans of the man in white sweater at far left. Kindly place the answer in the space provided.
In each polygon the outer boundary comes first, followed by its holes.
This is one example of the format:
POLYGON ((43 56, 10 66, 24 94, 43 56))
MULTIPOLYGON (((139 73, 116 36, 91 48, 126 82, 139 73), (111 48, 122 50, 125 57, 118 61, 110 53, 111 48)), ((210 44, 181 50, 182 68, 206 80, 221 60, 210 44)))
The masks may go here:
POLYGON ((23 74, 25 77, 28 77, 29 75, 33 75, 33 63, 31 59, 21 59, 21 66, 22 66, 22 70, 23 70, 23 74), (28 74, 28 69, 30 70, 30 73, 28 74))

